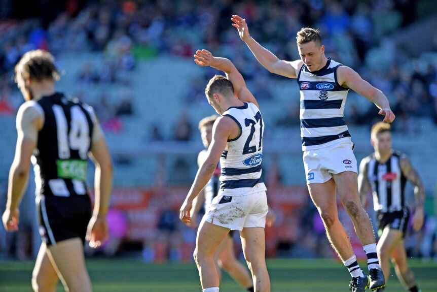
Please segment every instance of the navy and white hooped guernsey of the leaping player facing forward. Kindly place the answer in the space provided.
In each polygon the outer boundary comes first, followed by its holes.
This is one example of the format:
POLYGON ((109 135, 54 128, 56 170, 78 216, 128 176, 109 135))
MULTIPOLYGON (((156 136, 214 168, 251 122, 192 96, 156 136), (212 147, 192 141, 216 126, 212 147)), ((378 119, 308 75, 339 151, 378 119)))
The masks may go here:
POLYGON ((305 64, 297 78, 301 93, 302 150, 318 149, 350 141, 348 127, 343 119, 348 88, 337 81, 337 68, 342 64, 327 59, 326 65, 309 72, 305 64))

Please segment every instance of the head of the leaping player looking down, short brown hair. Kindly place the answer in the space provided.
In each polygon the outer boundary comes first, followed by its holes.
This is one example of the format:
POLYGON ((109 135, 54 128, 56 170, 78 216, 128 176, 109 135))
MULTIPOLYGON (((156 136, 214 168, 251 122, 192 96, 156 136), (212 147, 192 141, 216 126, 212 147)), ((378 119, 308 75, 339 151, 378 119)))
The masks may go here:
POLYGON ((299 55, 310 72, 320 70, 323 67, 324 46, 320 31, 311 27, 304 27, 296 36, 299 55))

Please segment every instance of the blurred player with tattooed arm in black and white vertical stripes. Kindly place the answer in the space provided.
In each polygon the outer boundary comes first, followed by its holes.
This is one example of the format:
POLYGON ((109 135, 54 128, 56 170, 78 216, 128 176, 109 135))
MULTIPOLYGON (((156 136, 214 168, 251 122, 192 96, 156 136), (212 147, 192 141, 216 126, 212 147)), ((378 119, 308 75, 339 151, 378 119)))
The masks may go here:
MULTIPOLYGON (((422 181, 407 156, 392 150, 390 124, 374 124, 371 130, 371 143, 375 152, 362 159, 359 166, 359 195, 364 206, 369 190, 372 189, 380 235, 377 250, 385 281, 390 276, 391 258, 400 282, 409 291, 417 292, 420 290, 413 271, 408 267, 404 245, 410 217, 410 211, 405 205, 404 189, 407 181, 414 186, 415 208, 412 222, 413 229, 418 231, 423 225, 424 216, 425 191, 422 181)), ((381 292, 383 288, 377 291, 381 292)))

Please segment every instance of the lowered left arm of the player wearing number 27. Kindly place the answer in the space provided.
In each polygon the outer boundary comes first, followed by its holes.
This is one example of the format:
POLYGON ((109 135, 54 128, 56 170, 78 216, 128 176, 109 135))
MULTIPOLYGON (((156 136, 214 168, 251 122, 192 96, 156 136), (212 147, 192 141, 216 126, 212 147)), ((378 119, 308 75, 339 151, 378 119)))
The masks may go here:
POLYGON ((179 219, 184 223, 191 223, 191 209, 193 207, 194 198, 205 187, 214 173, 218 161, 226 148, 228 139, 237 137, 239 131, 239 127, 230 117, 221 116, 215 121, 212 128, 212 141, 208 148, 207 157, 197 171, 193 185, 179 210, 179 219))

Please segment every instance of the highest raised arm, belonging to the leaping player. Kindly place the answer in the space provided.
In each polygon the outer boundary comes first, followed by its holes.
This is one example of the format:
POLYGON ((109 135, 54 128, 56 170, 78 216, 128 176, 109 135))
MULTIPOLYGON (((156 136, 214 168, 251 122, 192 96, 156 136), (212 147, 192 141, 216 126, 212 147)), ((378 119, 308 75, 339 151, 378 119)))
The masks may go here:
POLYGON ((246 43, 257 60, 271 73, 282 75, 288 78, 297 78, 297 72, 302 67, 302 60, 284 61, 275 54, 261 46, 249 34, 246 20, 238 15, 232 15, 232 25, 238 29, 240 39, 246 43))

